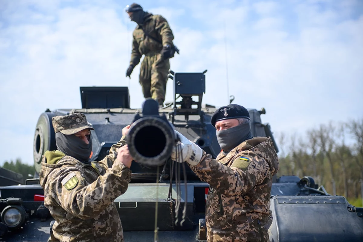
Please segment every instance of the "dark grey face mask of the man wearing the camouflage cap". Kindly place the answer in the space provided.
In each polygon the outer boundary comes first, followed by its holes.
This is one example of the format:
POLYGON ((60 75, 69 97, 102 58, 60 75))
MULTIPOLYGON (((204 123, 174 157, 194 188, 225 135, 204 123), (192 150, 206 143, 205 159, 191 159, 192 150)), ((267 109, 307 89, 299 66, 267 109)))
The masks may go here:
POLYGON ((61 132, 56 133, 57 148, 66 155, 72 156, 83 163, 90 163, 89 158, 92 152, 92 139, 89 143, 81 140, 75 135, 65 135, 61 132))

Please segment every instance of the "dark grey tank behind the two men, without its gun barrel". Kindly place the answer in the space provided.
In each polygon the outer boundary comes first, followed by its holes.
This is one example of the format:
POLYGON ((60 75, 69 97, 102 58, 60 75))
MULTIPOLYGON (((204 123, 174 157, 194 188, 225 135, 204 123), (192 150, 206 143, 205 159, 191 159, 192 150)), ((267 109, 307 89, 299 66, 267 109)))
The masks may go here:
MULTIPOLYGON (((167 117, 175 130, 215 158, 220 146, 210 119, 217 108, 202 104, 206 91, 205 72, 170 71, 174 101, 160 108, 159 113, 167 117)), ((130 108, 127 87, 80 87, 80 93, 82 108, 47 109, 39 116, 34 134, 34 179, 27 179, 25 185, 0 187, 3 199, 0 202, 0 237, 3 238, 0 241, 46 241, 49 237, 53 218, 42 205, 44 191, 37 176, 44 152, 56 149, 53 116, 84 113, 95 129, 91 131, 91 160, 98 161, 121 138, 122 128, 144 111, 130 108)), ((261 115, 266 113, 264 108, 248 111, 253 136, 273 139, 269 124, 261 121, 261 115)), ((162 144, 163 137, 160 137, 158 142, 162 144)), ((274 145, 278 152, 275 142, 274 145)), ((207 183, 201 182, 187 166, 186 179, 178 177, 178 171, 171 168, 170 162, 157 167, 132 163, 131 170, 127 192, 115 200, 125 241, 205 241, 207 183), (173 172, 176 179, 171 176, 173 172), (180 183, 179 179, 182 180, 180 183), (168 199, 176 198, 177 194, 180 195, 179 209, 175 208, 174 200, 168 199), (158 204, 156 219, 155 204, 158 204), (184 213, 182 208, 185 208, 184 213), (158 228, 157 236, 155 227, 158 228)), ((362 241, 363 209, 351 206, 342 196, 331 196, 311 177, 274 177, 270 201, 273 214, 269 230, 271 241, 362 241)), ((258 239, 262 241, 262 238, 258 239)))

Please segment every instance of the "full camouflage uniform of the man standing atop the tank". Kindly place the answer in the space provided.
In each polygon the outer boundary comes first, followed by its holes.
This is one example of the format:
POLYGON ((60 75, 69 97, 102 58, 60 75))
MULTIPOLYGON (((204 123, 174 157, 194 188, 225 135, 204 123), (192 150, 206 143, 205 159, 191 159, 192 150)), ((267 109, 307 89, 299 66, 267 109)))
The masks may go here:
POLYGON ((163 45, 173 46, 174 36, 168 22, 161 15, 148 13, 143 28, 150 36, 160 40, 162 44, 147 37, 138 25, 132 33, 130 65, 138 65, 141 56, 145 55, 139 76, 144 98, 151 97, 164 102, 170 63, 169 59, 162 59, 160 51, 163 49, 163 45))

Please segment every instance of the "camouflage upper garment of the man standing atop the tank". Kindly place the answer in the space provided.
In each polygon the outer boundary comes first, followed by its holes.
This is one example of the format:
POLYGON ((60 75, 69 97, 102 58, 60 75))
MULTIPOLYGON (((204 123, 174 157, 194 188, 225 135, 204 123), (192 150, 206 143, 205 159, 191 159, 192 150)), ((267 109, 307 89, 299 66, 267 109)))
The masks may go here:
POLYGON ((174 35, 170 29, 170 26, 166 19, 161 15, 152 15, 147 13, 143 27, 137 25, 132 33, 132 52, 130 65, 136 66, 140 62, 141 56, 148 54, 149 52, 160 52, 163 49, 163 45, 173 46, 174 35), (142 28, 148 35, 152 36, 156 40, 162 42, 162 44, 147 37, 142 28))

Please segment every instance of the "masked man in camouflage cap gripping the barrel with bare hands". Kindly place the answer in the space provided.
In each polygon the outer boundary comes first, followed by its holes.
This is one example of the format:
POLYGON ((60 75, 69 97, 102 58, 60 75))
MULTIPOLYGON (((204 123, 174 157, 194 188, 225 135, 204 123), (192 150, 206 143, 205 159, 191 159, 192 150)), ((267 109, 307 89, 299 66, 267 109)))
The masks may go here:
POLYGON ((101 161, 90 161, 93 127, 82 113, 52 118, 56 151, 46 151, 40 170, 44 206, 56 220, 48 241, 123 241, 114 200, 126 192, 132 157, 126 144, 130 126, 101 161))

